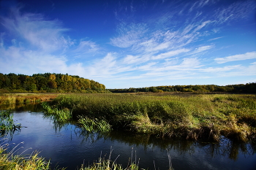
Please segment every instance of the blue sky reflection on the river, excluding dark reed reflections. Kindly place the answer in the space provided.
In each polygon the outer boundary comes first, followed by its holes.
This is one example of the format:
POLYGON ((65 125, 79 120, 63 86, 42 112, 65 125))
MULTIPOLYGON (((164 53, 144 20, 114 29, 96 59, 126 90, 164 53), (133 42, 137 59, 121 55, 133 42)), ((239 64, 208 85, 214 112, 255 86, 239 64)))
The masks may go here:
MULTIPOLYGON (((108 137, 97 139, 97 134, 86 138, 79 134, 79 129, 75 125, 64 125, 60 130, 56 130, 53 121, 43 118, 42 113, 37 112, 18 112, 14 114, 13 119, 15 123, 21 123, 26 128, 21 128, 20 133, 15 133, 12 142, 15 144, 25 142, 22 144, 24 149, 32 147, 33 150, 41 151, 40 155, 50 158, 53 166, 59 163, 60 167, 69 166, 69 169, 75 169, 83 162, 87 164, 98 160, 101 152, 102 156, 109 155, 112 147, 112 160, 119 155, 117 163, 122 163, 124 166, 127 166, 131 156, 133 160, 136 156, 137 161, 140 158, 141 168, 154 169, 155 163, 157 169, 168 169, 167 150, 160 149, 157 144, 148 142, 145 150, 144 144, 133 144, 108 137)), ((208 144, 203 146, 192 142, 189 149, 185 151, 178 149, 179 147, 183 146, 173 144, 167 148, 174 169, 253 169, 256 167, 256 155, 240 153, 236 161, 233 161, 228 158, 229 154, 222 155, 225 147, 215 148, 213 155, 212 148, 208 144)))

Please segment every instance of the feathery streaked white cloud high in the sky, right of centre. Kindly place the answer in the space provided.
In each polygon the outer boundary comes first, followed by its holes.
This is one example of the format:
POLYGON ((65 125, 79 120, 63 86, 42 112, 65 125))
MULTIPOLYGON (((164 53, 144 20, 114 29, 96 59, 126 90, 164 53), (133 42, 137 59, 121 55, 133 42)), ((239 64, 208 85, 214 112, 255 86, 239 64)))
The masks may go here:
MULTIPOLYGON (((200 30, 206 27, 210 20, 203 21, 199 24, 189 24, 185 28, 179 28, 176 31, 172 30, 155 30, 149 29, 146 23, 135 25, 131 24, 131 26, 121 25, 118 26, 118 36, 110 39, 110 44, 116 47, 127 48, 130 47, 132 52, 135 53, 162 53, 154 57, 157 58, 165 58, 169 53, 167 51, 173 50, 175 52, 184 51, 184 47, 189 45, 192 42, 195 42, 200 36, 200 30), (178 50, 177 50, 178 49, 178 50)), ((206 46, 210 47, 210 46, 206 46)), ((211 46, 213 47, 213 46, 211 46)), ((203 50, 203 48, 201 48, 203 50)), ((208 49, 204 49, 208 50, 208 49)), ((188 50, 186 50, 187 52, 188 50)), ((172 54, 172 52, 170 52, 172 54)))

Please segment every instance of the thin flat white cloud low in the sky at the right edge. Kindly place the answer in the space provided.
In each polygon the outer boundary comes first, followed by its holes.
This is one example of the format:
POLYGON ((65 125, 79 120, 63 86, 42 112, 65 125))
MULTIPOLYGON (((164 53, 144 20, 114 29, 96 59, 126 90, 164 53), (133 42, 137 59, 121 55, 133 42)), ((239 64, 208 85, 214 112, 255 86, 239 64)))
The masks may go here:
POLYGON ((248 59, 256 58, 256 51, 245 53, 245 54, 238 54, 238 55, 231 55, 225 58, 215 58, 214 60, 217 63, 227 63, 230 61, 243 61, 248 59))

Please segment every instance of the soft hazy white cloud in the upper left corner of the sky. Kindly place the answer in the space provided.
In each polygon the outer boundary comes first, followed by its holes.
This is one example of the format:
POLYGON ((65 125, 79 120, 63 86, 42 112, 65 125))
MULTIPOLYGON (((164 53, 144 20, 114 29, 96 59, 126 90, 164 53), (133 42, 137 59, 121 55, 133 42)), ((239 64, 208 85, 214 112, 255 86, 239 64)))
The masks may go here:
POLYGON ((42 15, 25 13, 12 9, 12 17, 2 18, 1 24, 12 34, 18 34, 29 43, 45 52, 52 52, 73 44, 63 36, 67 28, 61 28, 58 20, 44 20, 42 15))

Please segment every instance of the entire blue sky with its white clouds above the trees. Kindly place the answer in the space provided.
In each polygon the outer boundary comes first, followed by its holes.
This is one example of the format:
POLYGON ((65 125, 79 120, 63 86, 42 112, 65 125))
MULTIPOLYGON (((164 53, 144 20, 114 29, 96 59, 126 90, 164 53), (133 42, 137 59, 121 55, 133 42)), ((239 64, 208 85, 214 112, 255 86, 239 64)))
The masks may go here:
POLYGON ((256 82, 256 1, 0 1, 0 72, 106 88, 256 82))

